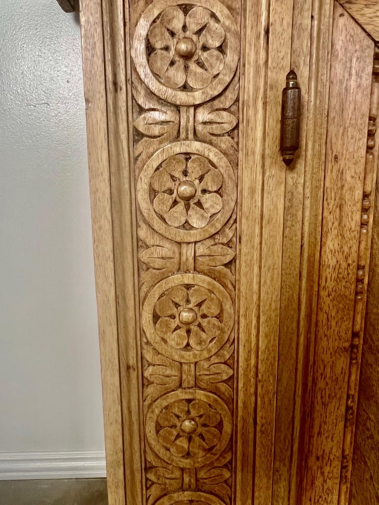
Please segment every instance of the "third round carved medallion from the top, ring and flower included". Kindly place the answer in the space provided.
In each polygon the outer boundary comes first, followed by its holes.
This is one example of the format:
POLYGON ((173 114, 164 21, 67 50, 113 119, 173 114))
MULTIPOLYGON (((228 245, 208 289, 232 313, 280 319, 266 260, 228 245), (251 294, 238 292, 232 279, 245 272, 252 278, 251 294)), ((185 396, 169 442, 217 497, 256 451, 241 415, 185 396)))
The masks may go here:
POLYGON ((225 289, 200 274, 172 275, 148 294, 142 325, 148 340, 164 356, 195 363, 214 355, 234 323, 225 289))

